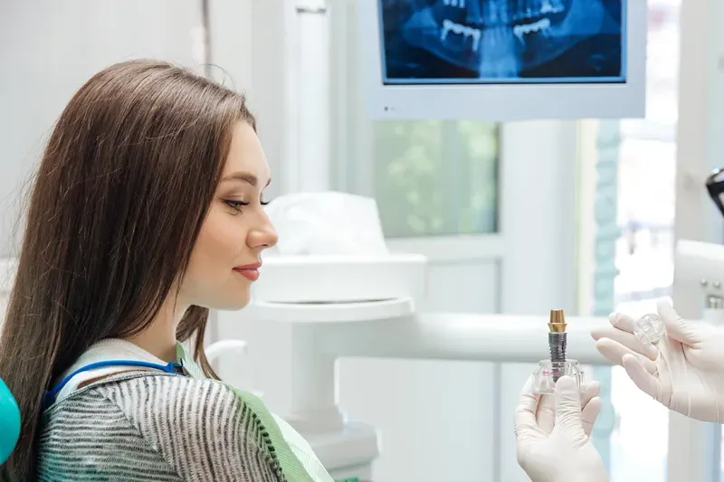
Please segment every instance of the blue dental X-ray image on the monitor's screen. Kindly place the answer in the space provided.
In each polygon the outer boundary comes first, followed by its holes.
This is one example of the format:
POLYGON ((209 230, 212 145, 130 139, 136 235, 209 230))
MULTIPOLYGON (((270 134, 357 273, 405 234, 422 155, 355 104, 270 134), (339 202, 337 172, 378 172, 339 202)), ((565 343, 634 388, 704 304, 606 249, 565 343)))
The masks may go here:
POLYGON ((385 85, 626 82, 626 0, 377 2, 385 85))

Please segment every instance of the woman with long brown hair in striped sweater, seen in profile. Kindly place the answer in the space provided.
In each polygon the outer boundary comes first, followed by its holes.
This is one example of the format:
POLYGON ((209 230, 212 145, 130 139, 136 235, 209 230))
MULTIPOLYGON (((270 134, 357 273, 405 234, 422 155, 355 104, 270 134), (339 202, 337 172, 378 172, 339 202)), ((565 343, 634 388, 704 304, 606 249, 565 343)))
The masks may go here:
POLYGON ((208 309, 244 307, 277 241, 269 182, 242 95, 157 61, 81 87, 34 179, 0 342, 23 418, 3 480, 294 478, 261 404, 205 379, 208 309))

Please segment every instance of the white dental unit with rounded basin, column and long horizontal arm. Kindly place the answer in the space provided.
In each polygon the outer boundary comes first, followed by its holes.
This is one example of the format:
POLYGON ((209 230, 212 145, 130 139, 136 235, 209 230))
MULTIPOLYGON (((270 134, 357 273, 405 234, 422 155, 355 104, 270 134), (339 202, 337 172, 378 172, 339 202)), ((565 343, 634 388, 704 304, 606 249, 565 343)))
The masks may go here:
MULTIPOLYGON (((275 263, 281 269, 283 258, 275 263)), ((307 264, 308 282, 313 282, 313 260, 307 260, 307 264)), ((319 270, 326 269, 325 264, 320 260, 319 270)), ((390 264, 394 265, 394 260, 390 264)), ((364 277, 348 270, 339 283, 348 279, 354 279, 364 293, 364 277)), ((367 282, 375 279, 370 277, 367 282)), ((399 285, 395 293, 403 289, 404 285, 399 285)), ((419 290, 407 289, 411 293, 419 290)), ((249 354, 243 364, 249 364, 257 373, 253 376, 256 383, 245 388, 262 392, 272 408, 286 405, 282 415, 310 441, 333 477, 360 480, 371 477, 371 464, 379 453, 377 434, 367 424, 346 421, 338 407, 338 358, 538 362, 540 354, 546 352, 546 321, 547 317, 415 314, 411 297, 346 303, 288 303, 255 298, 252 306, 241 313, 219 315, 220 327, 250 324, 249 354), (290 340, 289 345, 280 342, 285 338, 290 340), (283 353, 288 346, 291 356, 283 353), (273 376, 262 374, 276 360, 289 362, 281 367, 277 364, 273 376)), ((571 317, 569 354, 582 364, 604 364, 590 331, 606 322, 605 318, 571 317)))

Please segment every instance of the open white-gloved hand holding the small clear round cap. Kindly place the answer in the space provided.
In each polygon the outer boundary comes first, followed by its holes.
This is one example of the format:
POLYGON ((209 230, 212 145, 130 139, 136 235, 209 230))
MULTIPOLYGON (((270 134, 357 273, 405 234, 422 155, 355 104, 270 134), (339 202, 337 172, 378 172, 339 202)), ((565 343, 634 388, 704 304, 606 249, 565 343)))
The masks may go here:
POLYGON ((643 345, 633 336, 633 319, 613 313, 611 326, 591 333, 596 348, 671 410, 724 423, 724 330, 682 319, 668 299, 657 310, 666 330, 658 345, 643 345))

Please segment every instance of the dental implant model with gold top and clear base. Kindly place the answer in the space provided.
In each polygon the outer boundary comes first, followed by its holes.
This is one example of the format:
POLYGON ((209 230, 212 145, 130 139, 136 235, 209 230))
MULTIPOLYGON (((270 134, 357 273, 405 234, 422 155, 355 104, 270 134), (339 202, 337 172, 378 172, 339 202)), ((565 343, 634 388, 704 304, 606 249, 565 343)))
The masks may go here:
POLYGON ((580 391, 584 391, 586 388, 586 379, 581 364, 577 360, 567 358, 566 327, 566 316, 563 310, 551 310, 550 319, 548 320, 550 359, 538 362, 538 368, 533 373, 533 384, 537 393, 553 393, 556 382, 564 375, 572 377, 580 391))

